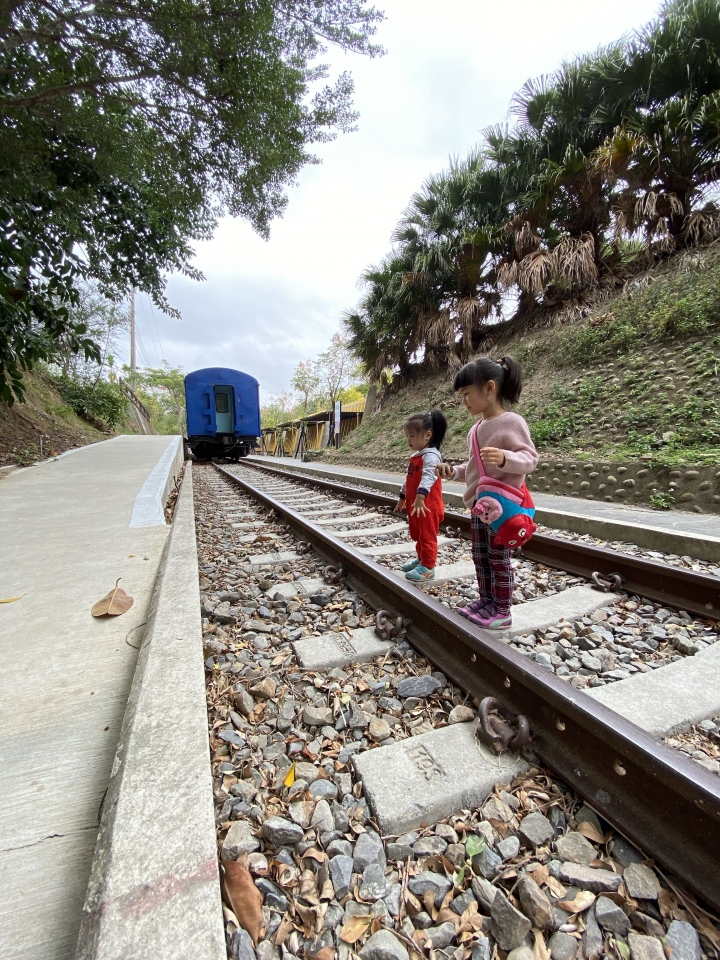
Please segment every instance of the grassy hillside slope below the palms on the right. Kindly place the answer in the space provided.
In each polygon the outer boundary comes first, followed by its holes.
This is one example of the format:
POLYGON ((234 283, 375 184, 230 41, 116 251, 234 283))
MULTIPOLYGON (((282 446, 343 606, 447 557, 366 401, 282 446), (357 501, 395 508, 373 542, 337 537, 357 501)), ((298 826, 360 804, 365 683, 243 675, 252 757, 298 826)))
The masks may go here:
MULTIPOLYGON (((522 363, 517 409, 545 459, 662 466, 720 459, 720 249, 675 257, 579 322, 511 330, 491 330, 487 350, 522 363)), ((431 406, 449 421, 445 456, 464 459, 471 419, 449 371, 383 397, 343 448, 323 459, 403 469, 403 419, 431 406)))

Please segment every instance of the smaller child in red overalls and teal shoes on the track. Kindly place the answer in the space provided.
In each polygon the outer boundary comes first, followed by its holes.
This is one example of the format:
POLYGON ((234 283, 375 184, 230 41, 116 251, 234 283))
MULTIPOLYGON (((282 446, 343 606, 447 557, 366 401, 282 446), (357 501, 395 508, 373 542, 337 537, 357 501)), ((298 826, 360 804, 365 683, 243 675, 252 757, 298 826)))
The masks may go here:
POLYGON ((402 569, 408 580, 433 580, 438 531, 445 516, 442 481, 435 468, 442 460, 440 444, 445 437, 447 420, 439 410, 414 413, 407 418, 404 428, 413 454, 395 511, 407 510, 406 503, 412 501, 408 524, 417 557, 403 564, 402 569))

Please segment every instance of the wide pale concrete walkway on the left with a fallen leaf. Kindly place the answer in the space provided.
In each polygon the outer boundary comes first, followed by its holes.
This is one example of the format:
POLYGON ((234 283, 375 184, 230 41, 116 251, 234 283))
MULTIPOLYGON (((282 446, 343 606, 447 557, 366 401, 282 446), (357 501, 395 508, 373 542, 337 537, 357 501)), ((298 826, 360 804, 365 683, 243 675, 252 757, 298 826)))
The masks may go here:
POLYGON ((116 437, 0 484, 0 599, 21 597, 0 605, 3 960, 74 955, 100 802, 170 530, 157 504, 182 466, 178 440, 116 437), (151 515, 154 525, 132 525, 151 515), (118 577, 133 607, 93 618, 118 577))

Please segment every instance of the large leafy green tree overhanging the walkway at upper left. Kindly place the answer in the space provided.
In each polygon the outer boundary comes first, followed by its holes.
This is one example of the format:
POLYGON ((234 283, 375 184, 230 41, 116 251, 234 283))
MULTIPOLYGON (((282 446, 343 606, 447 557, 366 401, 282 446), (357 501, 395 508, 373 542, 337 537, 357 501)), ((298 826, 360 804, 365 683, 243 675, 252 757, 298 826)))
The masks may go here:
POLYGON ((163 309, 169 271, 223 213, 267 235, 312 144, 350 130, 325 45, 375 55, 364 0, 8 0, 0 4, 0 399, 64 339, 93 277, 163 309))

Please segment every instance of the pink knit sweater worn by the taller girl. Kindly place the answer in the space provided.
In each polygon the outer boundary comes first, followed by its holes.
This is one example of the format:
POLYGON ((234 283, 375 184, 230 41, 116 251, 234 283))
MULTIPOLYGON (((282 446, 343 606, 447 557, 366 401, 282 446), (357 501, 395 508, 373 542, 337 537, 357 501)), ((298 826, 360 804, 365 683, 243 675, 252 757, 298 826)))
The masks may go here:
POLYGON ((526 474, 532 473, 539 459, 528 425, 519 414, 507 410, 498 417, 474 423, 468 433, 470 459, 455 467, 453 472, 453 480, 464 480, 467 484, 463 500, 468 507, 472 507, 475 502, 475 491, 480 482, 480 471, 472 453, 473 430, 478 432, 477 440, 481 450, 483 447, 497 447, 505 454, 505 464, 502 467, 483 464, 485 473, 511 487, 519 489, 525 482, 526 474))

